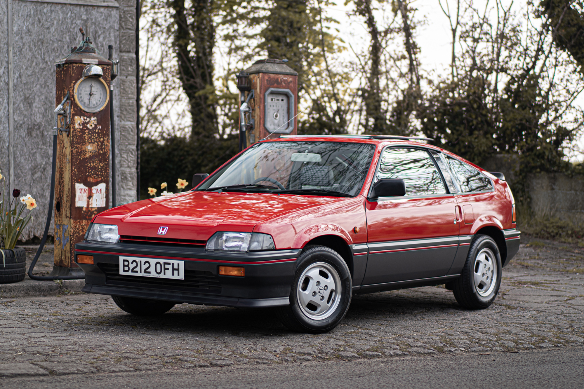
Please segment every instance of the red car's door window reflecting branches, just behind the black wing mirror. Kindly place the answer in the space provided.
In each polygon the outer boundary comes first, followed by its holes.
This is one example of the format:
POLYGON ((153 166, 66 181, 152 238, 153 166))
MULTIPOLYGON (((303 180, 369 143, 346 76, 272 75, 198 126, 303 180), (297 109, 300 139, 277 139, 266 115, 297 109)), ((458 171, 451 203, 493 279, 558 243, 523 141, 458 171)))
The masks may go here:
POLYGON ((445 194, 446 187, 430 155, 415 148, 387 148, 381 154, 377 179, 401 178, 406 196, 445 194))

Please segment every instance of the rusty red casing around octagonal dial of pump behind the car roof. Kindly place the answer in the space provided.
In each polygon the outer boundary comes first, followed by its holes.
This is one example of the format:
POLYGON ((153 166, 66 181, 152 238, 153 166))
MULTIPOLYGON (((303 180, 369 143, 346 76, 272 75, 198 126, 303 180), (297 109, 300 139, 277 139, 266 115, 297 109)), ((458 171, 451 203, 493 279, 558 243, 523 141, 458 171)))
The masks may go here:
MULTIPOLYGON (((286 66, 288 70, 291 70, 286 66)), ((249 68, 251 69, 251 68, 249 68)), ((249 72, 249 69, 246 72, 249 72)), ((249 100, 249 106, 252 109, 252 117, 255 120, 255 127, 253 131, 246 132, 247 144, 250 145, 251 135, 253 133, 253 140, 255 142, 265 138, 269 132, 266 131, 264 122, 266 119, 265 115, 265 93, 270 88, 278 89, 290 89, 294 95, 294 113, 291 117, 294 117, 294 130, 291 131, 290 135, 296 135, 298 133, 298 76, 296 74, 277 74, 273 68, 270 68, 269 73, 253 73, 249 75, 249 82, 251 89, 253 89, 253 99, 249 100)), ((293 72, 293 71, 291 71, 293 72)), ((249 92, 247 92, 249 93, 249 92)), ((247 96, 246 93, 246 96, 247 96)), ((280 134, 272 134, 269 138, 279 138, 280 134)))

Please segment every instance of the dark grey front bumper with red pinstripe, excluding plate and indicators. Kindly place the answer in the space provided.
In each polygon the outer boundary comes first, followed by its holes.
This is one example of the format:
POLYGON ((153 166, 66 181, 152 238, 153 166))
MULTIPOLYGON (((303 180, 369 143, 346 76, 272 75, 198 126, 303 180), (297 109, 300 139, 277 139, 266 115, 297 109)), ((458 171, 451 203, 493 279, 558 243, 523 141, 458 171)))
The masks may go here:
POLYGON ((249 253, 213 253, 203 248, 142 244, 75 245, 77 255, 92 255, 93 265, 78 263, 85 272, 87 293, 228 307, 288 305, 300 249, 249 253), (185 279, 172 280, 119 274, 119 257, 185 261, 185 279), (219 266, 245 268, 245 277, 222 276, 219 266))

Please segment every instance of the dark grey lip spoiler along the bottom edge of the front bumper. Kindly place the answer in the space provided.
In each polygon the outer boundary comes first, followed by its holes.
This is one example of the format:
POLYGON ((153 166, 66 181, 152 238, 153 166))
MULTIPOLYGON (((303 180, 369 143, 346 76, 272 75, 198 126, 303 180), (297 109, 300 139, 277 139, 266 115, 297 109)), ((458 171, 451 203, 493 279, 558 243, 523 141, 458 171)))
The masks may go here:
POLYGON ((170 291, 131 289, 123 287, 110 287, 105 285, 85 284, 82 291, 85 293, 107 294, 109 296, 124 296, 135 298, 147 298, 152 300, 176 301, 176 303, 189 303, 199 305, 221 305, 224 307, 283 307, 290 305, 290 297, 272 298, 237 298, 223 296, 207 296, 203 294, 177 293, 170 291))

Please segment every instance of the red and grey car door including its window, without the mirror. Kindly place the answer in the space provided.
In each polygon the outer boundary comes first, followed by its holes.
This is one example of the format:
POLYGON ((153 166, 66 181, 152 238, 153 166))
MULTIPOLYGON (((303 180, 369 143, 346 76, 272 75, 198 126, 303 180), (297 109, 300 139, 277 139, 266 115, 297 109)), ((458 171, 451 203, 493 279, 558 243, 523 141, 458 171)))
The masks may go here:
POLYGON ((381 153, 373 183, 383 178, 404 179, 406 194, 367 200, 369 258, 362 284, 446 275, 460 225, 451 181, 445 182, 427 150, 413 147, 381 153))

